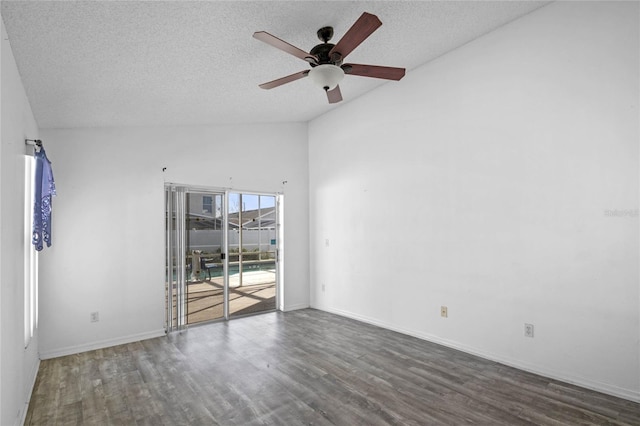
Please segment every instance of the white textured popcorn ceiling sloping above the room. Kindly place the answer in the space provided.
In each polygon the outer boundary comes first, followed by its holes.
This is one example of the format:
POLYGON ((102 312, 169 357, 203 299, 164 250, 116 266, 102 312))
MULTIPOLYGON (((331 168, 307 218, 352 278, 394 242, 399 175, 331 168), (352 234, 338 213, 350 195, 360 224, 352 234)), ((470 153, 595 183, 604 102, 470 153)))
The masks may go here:
MULTIPOLYGON (((347 62, 407 74, 547 2, 527 1, 2 1, 2 17, 41 128, 308 121, 329 105, 308 69, 252 38, 267 31, 310 50, 318 28, 336 43, 367 11, 383 25, 347 62)), ((346 76, 349 102, 380 84, 346 76)))

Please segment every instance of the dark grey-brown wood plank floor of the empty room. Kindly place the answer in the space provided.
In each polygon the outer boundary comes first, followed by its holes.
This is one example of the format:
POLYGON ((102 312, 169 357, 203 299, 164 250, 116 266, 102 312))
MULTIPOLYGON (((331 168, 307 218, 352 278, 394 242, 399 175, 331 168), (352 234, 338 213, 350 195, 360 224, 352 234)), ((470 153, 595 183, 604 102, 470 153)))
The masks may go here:
POLYGON ((640 425, 640 405, 317 310, 42 361, 32 425, 640 425))

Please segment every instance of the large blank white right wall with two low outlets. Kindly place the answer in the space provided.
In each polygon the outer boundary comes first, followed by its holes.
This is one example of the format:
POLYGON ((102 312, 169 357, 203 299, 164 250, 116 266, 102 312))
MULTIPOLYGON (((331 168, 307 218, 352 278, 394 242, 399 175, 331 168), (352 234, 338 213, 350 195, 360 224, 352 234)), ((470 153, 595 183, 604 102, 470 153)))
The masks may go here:
POLYGON ((638 6, 553 3, 312 121, 312 306, 640 400, 638 6))

